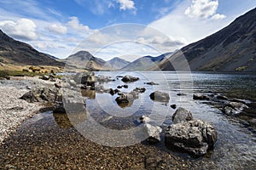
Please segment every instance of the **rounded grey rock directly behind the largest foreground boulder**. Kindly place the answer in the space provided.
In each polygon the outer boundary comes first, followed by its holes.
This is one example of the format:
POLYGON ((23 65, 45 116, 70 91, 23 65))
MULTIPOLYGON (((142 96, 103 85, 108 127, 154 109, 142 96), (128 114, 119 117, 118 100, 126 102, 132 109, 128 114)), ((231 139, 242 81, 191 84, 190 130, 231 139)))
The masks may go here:
POLYGON ((189 122, 193 120, 193 116, 190 111, 184 109, 183 107, 177 108, 177 111, 172 115, 172 122, 174 124, 179 122, 189 122))

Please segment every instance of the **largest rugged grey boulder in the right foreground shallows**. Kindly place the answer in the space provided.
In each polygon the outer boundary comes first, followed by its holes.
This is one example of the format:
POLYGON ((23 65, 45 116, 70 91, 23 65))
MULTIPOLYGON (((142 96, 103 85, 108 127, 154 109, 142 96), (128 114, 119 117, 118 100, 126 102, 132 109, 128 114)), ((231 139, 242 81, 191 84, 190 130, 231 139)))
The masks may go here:
POLYGON ((195 156, 207 154, 217 141, 217 132, 211 124, 201 120, 181 122, 167 127, 166 146, 195 156))

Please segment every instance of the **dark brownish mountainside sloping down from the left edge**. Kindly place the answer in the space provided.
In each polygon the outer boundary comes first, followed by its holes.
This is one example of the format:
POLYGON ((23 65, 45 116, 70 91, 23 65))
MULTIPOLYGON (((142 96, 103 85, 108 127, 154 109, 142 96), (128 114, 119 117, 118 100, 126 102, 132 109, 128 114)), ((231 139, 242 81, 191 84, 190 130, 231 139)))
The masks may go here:
POLYGON ((0 30, 0 62, 11 65, 64 66, 48 54, 40 53, 25 42, 19 42, 0 30))

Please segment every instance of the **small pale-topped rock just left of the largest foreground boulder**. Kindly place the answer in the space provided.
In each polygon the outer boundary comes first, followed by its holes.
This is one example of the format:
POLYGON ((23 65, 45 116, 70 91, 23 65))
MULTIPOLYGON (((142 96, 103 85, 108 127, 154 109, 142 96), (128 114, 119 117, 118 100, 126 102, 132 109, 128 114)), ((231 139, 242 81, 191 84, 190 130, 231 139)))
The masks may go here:
POLYGON ((144 124, 144 129, 148 135, 148 144, 157 144, 160 142, 160 133, 162 132, 161 127, 153 126, 148 123, 144 124))

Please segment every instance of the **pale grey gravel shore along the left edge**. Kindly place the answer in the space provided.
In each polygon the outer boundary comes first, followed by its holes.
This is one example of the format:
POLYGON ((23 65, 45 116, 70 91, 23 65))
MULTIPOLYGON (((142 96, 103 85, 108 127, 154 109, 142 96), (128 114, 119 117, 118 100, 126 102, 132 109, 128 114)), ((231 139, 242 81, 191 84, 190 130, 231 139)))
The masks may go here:
POLYGON ((43 107, 19 98, 28 92, 29 88, 50 83, 53 82, 45 82, 38 77, 11 77, 11 80, 0 82, 0 143, 8 138, 10 133, 15 132, 21 122, 43 107))

